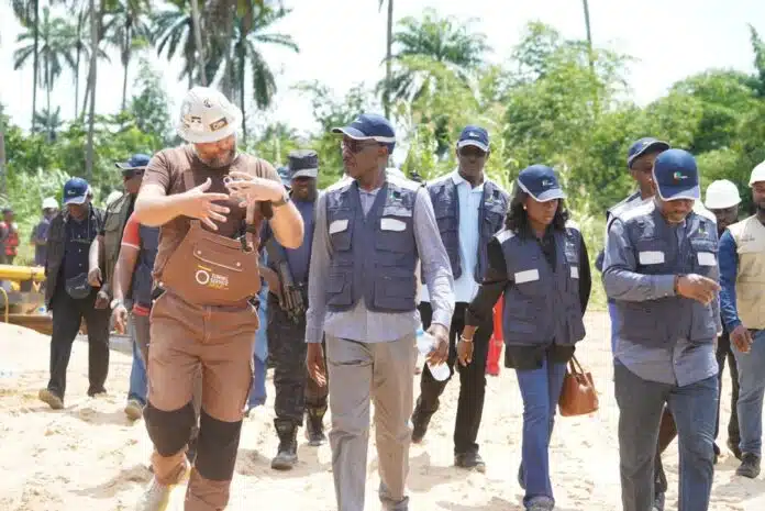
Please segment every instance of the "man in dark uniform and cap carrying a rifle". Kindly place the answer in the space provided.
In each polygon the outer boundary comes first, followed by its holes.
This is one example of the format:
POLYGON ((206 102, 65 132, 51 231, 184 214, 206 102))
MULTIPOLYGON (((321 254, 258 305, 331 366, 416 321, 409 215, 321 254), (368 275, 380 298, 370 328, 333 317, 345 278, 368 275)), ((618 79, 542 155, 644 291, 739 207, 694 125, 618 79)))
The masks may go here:
POLYGON ((326 437, 322 420, 326 412, 328 387, 319 387, 306 370, 306 310, 308 309, 308 268, 311 259, 313 219, 317 200, 319 156, 315 151, 289 154, 289 186, 292 202, 303 220, 303 243, 285 248, 265 224, 262 246, 266 247, 268 268, 268 354, 274 360, 276 400, 274 425, 279 448, 271 468, 289 470, 298 460, 297 431, 308 414, 307 436, 310 445, 321 445, 326 437))

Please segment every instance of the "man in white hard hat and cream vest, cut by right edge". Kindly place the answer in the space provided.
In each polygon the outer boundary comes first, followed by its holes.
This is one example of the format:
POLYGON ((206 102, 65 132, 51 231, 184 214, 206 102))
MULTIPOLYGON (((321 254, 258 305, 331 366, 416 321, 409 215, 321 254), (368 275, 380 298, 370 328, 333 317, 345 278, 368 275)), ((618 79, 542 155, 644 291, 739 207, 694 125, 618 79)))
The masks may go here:
POLYGON ((760 475, 765 396, 765 162, 749 182, 755 214, 720 238, 720 311, 739 368, 739 476, 760 475))

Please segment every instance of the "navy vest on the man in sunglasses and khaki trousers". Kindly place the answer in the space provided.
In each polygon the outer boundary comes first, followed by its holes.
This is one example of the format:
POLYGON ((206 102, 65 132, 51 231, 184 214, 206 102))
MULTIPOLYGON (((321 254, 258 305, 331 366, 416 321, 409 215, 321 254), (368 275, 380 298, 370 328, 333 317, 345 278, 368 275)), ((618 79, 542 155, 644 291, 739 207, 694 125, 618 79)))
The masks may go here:
POLYGON ((415 308, 414 202, 420 185, 388 177, 364 215, 355 180, 326 191, 332 246, 326 303, 347 311, 363 297, 366 308, 406 312, 415 308))

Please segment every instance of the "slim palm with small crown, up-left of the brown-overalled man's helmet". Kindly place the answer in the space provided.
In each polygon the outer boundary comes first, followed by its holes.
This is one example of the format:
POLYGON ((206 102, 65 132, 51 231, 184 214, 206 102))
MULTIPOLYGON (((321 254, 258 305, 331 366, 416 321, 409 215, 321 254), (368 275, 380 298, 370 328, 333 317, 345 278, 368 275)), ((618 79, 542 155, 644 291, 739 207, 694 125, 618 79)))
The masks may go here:
POLYGON ((120 49, 123 68, 122 111, 127 107, 127 74, 133 52, 152 38, 147 19, 151 8, 148 0, 118 0, 114 9, 104 13, 107 22, 103 32, 108 34, 109 42, 120 49))

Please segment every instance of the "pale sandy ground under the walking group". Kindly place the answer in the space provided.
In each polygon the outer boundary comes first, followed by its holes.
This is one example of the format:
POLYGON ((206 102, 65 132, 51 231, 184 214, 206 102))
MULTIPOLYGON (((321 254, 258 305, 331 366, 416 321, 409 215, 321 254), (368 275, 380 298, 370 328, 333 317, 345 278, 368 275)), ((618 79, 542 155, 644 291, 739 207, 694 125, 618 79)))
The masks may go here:
MULTIPOLYGON (((586 418, 558 418, 551 445, 553 487, 559 511, 616 511, 620 506, 617 441, 618 411, 611 384, 611 362, 603 313, 587 316, 588 338, 579 358, 595 377, 600 411, 586 418)), ((113 351, 108 380, 110 395, 90 399, 87 390, 87 346, 76 343, 68 374, 64 410, 37 401, 47 381, 48 337, 0 324, 0 510, 112 511, 132 510, 151 474, 151 444, 143 421, 124 416, 131 358, 113 351)), ((727 376, 725 376, 727 377, 727 376)), ((730 386, 723 392, 723 414, 730 412, 730 386)), ((521 510, 515 482, 520 460, 522 403, 514 373, 489 377, 479 434, 486 474, 452 466, 452 429, 457 381, 450 384, 442 408, 421 445, 411 449, 409 490, 412 510, 521 510)), ((417 393, 417 392, 415 392, 417 393)), ((274 388, 268 402, 244 424, 229 510, 315 510, 334 508, 329 446, 309 447, 301 437, 299 466, 290 473, 270 469, 277 440, 273 427, 274 388)), ((329 421, 328 421, 329 422, 329 421)), ((723 430, 724 431, 724 430, 723 430)), ((370 435, 374 438, 374 433, 370 435)), ((374 442, 374 441, 373 441, 374 442)), ((719 443, 724 445, 724 434, 719 443)), ((667 510, 677 509, 677 444, 666 455, 670 480, 667 510)), ((738 462, 723 447, 716 468, 710 509, 765 510, 765 478, 734 476, 738 462)), ((370 445, 367 510, 379 509, 377 455, 370 445)), ((173 509, 182 509, 182 488, 173 509)))

